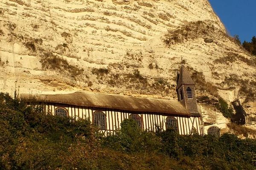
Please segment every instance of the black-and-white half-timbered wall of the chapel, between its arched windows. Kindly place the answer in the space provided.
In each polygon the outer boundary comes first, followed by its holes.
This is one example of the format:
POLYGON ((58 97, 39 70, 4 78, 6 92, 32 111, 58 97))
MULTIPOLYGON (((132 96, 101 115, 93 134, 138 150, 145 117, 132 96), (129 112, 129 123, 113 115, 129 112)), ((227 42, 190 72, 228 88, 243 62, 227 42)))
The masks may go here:
MULTIPOLYGON (((127 111, 116 111, 111 109, 96 109, 96 108, 88 108, 88 107, 79 107, 79 106, 61 106, 56 104, 47 104, 46 111, 48 113, 55 115, 55 110, 58 108, 64 108, 68 111, 68 115, 73 119, 90 119, 93 122, 93 112, 94 111, 102 111, 106 116, 106 130, 104 131, 106 134, 114 133, 116 130, 120 128, 120 124, 124 119, 128 119, 131 113, 127 111)), ((134 114, 134 113, 133 113, 134 114)), ((156 130, 156 125, 166 130, 166 118, 167 116, 163 116, 160 114, 152 114, 152 113, 137 113, 142 122, 143 130, 156 130)), ((202 134, 201 130, 201 121, 199 117, 183 117, 183 116, 173 116, 177 119, 178 124, 178 132, 181 135, 189 135, 192 134, 193 128, 195 128, 199 134, 202 134)))

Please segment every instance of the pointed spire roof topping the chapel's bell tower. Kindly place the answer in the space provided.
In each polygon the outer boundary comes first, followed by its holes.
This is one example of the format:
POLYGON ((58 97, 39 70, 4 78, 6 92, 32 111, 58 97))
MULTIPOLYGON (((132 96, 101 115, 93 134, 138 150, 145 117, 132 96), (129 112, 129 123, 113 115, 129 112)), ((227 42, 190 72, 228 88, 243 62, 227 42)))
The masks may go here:
POLYGON ((184 65, 181 65, 180 67, 180 75, 177 84, 177 89, 179 89, 181 85, 195 85, 195 82, 190 77, 189 72, 184 65))

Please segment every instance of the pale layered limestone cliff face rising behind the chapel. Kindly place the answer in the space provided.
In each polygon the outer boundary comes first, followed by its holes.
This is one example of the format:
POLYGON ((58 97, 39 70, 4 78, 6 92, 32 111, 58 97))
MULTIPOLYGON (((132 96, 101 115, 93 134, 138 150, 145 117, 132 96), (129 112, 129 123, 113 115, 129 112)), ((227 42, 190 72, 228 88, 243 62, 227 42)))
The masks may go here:
POLYGON ((9 93, 177 98, 181 62, 207 85, 198 96, 213 94, 210 84, 232 101, 256 85, 255 59, 207 0, 0 0, 0 59, 9 93))

